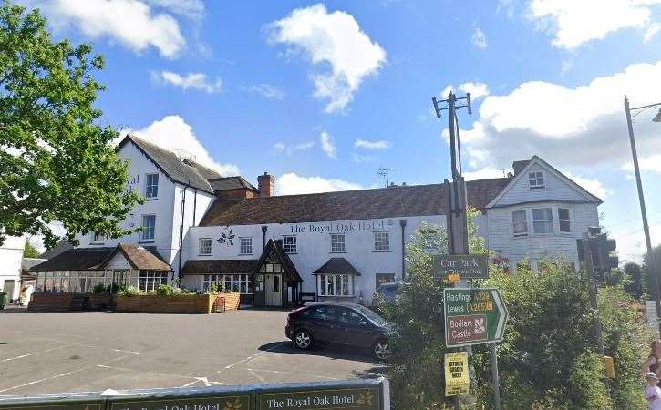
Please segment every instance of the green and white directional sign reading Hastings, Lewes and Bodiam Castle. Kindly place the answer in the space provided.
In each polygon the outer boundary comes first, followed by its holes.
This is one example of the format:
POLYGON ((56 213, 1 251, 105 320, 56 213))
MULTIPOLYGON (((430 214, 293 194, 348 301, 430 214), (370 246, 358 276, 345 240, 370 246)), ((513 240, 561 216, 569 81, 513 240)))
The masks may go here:
POLYGON ((446 288, 443 300, 448 347, 501 342, 508 312, 497 289, 446 288))

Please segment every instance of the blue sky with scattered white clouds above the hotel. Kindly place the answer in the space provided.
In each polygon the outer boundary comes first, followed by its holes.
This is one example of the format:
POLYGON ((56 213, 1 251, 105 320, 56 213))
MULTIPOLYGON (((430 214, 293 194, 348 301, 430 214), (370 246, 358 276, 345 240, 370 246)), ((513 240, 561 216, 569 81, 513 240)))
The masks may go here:
MULTIPOLYGON (((661 102, 661 0, 202 2, 25 0, 57 37, 106 57, 103 121, 279 193, 449 175, 460 114, 469 178, 533 154, 604 199, 621 259, 644 248, 622 99, 661 102), (481 96, 479 94, 482 94, 481 96)), ((636 118, 653 241, 661 242, 661 125, 636 118)))

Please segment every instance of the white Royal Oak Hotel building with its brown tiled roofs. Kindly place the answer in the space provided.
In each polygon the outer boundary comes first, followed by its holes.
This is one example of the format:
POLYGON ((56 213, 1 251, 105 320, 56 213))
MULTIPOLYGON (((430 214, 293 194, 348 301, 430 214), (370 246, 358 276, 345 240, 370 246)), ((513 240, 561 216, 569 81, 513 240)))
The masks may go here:
MULTIPOLYGON (((33 268, 36 292, 89 292, 98 282, 202 292, 215 283, 258 306, 369 302, 380 283, 402 278, 422 223, 445 225, 441 184, 274 196, 267 173, 254 187, 139 138, 118 150, 130 161, 127 189, 147 199, 124 223, 142 231, 80 236, 79 247, 33 268)), ((578 264, 576 239, 599 224, 601 200, 539 157, 513 170, 467 182, 488 248, 512 266, 558 256, 578 264)))

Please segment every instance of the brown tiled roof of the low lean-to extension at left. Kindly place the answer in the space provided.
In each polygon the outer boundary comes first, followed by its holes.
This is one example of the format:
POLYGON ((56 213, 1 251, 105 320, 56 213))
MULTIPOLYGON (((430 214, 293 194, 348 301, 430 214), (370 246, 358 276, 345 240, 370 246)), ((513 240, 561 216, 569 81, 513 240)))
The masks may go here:
POLYGON ((129 255, 127 256, 127 260, 130 259, 130 261, 133 261, 132 264, 139 266, 136 269, 171 271, 170 265, 162 261, 159 252, 155 248, 142 248, 136 245, 121 244, 113 247, 70 249, 32 267, 30 272, 102 270, 104 264, 116 251, 123 251, 125 255, 129 255), (147 253, 150 255, 147 255, 147 253), (156 262, 154 259, 160 262, 156 262))

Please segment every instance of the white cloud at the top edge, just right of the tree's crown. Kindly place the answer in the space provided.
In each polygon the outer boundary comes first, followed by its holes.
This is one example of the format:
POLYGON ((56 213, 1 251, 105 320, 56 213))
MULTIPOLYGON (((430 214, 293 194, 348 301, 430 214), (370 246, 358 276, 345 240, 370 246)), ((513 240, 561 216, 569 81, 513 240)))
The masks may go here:
POLYGON ((76 27, 91 38, 107 36, 135 52, 149 47, 161 56, 177 56, 186 45, 177 20, 165 13, 152 13, 139 0, 49 0, 33 1, 58 30, 76 27))

